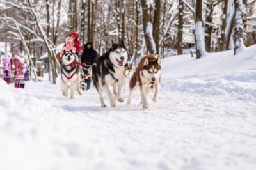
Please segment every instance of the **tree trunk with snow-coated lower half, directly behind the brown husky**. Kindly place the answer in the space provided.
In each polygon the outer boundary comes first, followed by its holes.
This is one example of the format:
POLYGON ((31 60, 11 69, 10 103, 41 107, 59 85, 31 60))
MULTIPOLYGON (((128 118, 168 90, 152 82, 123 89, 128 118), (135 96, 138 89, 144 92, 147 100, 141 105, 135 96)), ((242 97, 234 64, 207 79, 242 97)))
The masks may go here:
POLYGON ((152 22, 150 20, 150 3, 148 0, 141 0, 143 31, 148 52, 156 53, 156 44, 152 35, 152 22))

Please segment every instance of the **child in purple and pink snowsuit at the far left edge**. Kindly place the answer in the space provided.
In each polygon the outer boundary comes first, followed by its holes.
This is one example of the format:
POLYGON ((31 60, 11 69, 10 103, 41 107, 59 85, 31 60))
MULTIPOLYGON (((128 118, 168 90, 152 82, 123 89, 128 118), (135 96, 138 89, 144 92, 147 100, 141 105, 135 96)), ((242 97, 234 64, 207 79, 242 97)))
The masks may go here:
POLYGON ((2 59, 3 61, 3 79, 7 84, 10 84, 12 77, 12 54, 8 54, 2 59))

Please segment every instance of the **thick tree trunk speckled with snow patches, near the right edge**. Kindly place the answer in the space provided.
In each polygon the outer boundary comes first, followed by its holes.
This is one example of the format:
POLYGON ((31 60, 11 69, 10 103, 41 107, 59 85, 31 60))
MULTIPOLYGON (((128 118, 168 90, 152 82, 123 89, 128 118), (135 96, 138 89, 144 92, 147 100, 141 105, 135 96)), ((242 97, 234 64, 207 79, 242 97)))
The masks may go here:
POLYGON ((243 48, 243 4, 241 0, 234 0, 235 4, 235 33, 234 33, 234 55, 237 50, 243 48))

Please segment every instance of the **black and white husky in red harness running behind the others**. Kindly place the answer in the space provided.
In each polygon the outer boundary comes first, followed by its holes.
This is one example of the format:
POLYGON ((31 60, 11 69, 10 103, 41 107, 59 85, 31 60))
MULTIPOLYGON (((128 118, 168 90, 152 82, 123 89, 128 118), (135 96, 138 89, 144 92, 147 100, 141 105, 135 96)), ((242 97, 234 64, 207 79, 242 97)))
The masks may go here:
POLYGON ((80 66, 76 65, 76 62, 76 54, 74 54, 72 50, 64 50, 61 57, 61 91, 63 95, 68 97, 68 82, 70 82, 70 98, 74 98, 75 86, 79 95, 82 94, 80 89, 80 66))

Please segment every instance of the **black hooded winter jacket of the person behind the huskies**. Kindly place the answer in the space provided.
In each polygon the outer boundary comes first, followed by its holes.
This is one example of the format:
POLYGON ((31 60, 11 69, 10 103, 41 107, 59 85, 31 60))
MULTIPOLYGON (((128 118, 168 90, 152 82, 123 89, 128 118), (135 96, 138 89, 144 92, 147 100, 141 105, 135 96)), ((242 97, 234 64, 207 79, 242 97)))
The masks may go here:
POLYGON ((98 56, 98 53, 96 50, 93 49, 92 42, 86 43, 84 45, 83 54, 81 56, 81 62, 86 65, 93 65, 93 63, 96 61, 98 56), (92 47, 90 49, 87 48, 87 45, 90 44, 92 47))

